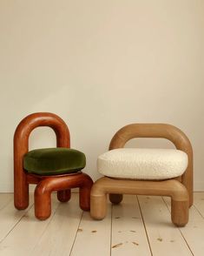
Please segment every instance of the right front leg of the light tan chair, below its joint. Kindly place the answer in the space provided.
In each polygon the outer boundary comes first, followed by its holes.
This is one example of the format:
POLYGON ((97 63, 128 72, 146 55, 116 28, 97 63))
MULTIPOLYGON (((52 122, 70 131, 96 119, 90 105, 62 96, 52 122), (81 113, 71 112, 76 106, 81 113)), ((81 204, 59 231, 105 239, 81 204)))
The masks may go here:
POLYGON ((171 219, 175 226, 185 226, 188 223, 188 200, 171 199, 171 219))

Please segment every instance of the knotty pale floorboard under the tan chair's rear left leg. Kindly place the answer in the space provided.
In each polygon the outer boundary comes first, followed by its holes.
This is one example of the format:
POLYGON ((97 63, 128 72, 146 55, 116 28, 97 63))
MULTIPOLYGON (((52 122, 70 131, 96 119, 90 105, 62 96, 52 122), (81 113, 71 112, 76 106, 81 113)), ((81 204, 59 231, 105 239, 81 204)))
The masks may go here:
POLYGON ((151 255, 136 196, 124 196, 113 206, 112 256, 151 255))

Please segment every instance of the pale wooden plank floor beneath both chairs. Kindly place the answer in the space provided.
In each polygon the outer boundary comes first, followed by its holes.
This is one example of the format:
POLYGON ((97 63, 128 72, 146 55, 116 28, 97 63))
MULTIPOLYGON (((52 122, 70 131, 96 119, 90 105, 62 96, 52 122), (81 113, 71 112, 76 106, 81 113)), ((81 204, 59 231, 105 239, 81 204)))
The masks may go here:
POLYGON ((69 203, 52 199, 52 215, 34 217, 30 207, 17 211, 13 194, 0 194, 0 255, 204 255, 204 192, 194 193, 194 206, 186 227, 170 220, 170 200, 161 197, 125 196, 112 206, 106 219, 95 221, 78 206, 78 194, 69 203))

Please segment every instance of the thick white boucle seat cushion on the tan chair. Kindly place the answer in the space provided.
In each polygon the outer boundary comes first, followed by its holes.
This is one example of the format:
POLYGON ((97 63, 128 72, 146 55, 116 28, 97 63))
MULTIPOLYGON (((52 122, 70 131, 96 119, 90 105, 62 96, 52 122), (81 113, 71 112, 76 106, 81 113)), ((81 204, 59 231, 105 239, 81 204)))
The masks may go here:
POLYGON ((122 179, 171 179, 188 166, 188 155, 175 149, 120 148, 97 159, 98 172, 122 179))

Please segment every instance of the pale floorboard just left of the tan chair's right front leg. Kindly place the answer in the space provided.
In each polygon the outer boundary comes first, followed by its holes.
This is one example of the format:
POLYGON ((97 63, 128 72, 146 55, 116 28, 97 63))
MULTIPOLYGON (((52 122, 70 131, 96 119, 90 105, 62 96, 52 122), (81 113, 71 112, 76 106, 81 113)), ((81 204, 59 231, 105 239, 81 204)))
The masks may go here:
POLYGON ((180 230, 171 223, 170 212, 161 197, 139 196, 153 255, 192 255, 180 230))

